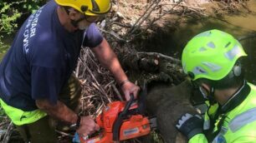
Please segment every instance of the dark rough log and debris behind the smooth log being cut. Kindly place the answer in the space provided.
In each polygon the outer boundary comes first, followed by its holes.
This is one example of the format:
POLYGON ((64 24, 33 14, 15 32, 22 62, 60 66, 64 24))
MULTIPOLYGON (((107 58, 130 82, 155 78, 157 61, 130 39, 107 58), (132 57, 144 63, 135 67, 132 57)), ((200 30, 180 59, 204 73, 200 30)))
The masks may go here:
MULTIPOLYGON (((129 72, 136 72, 135 79, 142 83, 147 81, 165 81, 177 85, 184 81, 181 62, 156 52, 137 52, 120 57, 120 62, 129 72)), ((133 76, 134 76, 133 75, 133 76)))

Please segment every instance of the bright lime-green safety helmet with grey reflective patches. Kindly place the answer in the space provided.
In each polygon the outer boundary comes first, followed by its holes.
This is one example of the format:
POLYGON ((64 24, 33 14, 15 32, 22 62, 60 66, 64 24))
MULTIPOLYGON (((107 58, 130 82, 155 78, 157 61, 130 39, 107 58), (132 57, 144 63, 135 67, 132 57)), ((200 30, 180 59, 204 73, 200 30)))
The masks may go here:
POLYGON ((219 30, 202 32, 190 40, 182 52, 182 67, 195 81, 218 81, 227 76, 239 57, 247 56, 233 36, 219 30))

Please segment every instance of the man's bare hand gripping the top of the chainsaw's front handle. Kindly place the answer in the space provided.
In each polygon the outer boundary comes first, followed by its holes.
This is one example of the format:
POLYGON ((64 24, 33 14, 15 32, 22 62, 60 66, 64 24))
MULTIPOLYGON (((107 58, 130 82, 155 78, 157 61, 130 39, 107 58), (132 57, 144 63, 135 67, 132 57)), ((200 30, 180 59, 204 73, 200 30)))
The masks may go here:
POLYGON ((131 81, 125 81, 125 83, 121 85, 121 90, 125 94, 126 101, 129 101, 131 94, 134 95, 135 99, 137 98, 140 87, 136 86, 131 81))

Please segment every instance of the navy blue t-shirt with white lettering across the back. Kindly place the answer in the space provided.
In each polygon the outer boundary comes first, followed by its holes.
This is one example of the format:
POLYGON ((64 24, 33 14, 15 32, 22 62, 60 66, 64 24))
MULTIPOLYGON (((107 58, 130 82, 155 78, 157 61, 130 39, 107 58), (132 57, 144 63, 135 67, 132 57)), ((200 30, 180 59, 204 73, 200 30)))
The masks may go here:
POLYGON ((28 17, 0 64, 0 97, 9 106, 33 111, 38 99, 55 104, 81 46, 96 47, 103 40, 95 23, 85 32, 68 32, 57 7, 52 0, 28 17))

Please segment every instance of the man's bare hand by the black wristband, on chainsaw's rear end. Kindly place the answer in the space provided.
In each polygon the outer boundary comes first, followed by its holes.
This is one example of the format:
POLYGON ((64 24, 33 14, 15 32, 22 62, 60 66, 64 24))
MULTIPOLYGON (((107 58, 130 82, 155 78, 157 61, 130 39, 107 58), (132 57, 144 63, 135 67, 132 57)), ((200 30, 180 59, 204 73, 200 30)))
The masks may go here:
POLYGON ((81 116, 81 121, 77 133, 79 136, 89 136, 95 131, 99 131, 100 126, 98 126, 94 119, 90 116, 81 116))

